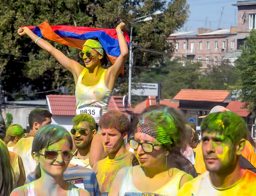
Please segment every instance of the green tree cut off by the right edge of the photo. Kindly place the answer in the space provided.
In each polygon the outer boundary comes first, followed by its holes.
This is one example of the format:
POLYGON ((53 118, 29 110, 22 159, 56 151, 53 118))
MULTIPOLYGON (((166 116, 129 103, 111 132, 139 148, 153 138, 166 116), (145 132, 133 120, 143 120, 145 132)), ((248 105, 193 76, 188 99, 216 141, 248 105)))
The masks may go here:
POLYGON ((236 89, 244 102, 244 108, 249 111, 255 111, 256 107, 256 31, 252 29, 250 36, 246 38, 245 45, 241 56, 236 61, 236 70, 239 74, 239 80, 236 84, 236 89))

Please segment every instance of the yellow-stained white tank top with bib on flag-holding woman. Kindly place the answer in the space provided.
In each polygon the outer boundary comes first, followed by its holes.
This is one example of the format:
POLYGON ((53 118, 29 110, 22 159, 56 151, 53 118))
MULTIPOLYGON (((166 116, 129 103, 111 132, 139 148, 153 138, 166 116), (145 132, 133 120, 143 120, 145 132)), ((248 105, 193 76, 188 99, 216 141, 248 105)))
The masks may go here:
POLYGON ((96 85, 83 85, 82 79, 87 71, 86 68, 82 70, 75 87, 76 114, 90 114, 98 122, 100 116, 108 111, 107 106, 113 91, 105 85, 106 69, 103 71, 100 81, 96 85))

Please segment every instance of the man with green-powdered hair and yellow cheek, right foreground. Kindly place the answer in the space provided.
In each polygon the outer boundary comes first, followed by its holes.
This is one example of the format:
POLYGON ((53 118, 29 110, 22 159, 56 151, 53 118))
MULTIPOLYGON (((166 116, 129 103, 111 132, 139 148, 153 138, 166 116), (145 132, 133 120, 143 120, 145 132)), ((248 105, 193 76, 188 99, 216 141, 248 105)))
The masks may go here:
POLYGON ((231 111, 212 113, 201 130, 207 172, 184 184, 177 196, 255 195, 256 174, 239 164, 247 138, 244 119, 231 111))

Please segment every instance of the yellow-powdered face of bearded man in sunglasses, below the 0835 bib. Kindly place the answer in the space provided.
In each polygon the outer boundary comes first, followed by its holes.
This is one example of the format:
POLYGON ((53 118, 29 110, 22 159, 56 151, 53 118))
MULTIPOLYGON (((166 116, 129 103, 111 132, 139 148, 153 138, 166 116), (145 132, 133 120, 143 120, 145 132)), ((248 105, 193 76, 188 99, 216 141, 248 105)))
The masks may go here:
POLYGON ((74 126, 75 129, 85 129, 85 135, 81 135, 79 131, 76 131, 75 135, 72 135, 72 139, 75 143, 76 148, 78 149, 85 149, 86 147, 91 146, 92 137, 95 135, 96 130, 90 130, 90 125, 88 122, 83 121, 80 122, 78 125, 74 126))

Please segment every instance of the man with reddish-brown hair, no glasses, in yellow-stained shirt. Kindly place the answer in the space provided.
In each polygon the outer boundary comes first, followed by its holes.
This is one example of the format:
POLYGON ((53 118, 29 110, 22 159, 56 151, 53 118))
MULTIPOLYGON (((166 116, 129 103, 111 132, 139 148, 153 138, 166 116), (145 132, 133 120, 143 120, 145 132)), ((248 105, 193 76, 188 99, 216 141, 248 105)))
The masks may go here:
POLYGON ((92 168, 96 174, 101 194, 108 194, 117 172, 132 165, 132 153, 124 146, 130 130, 130 122, 121 111, 108 111, 99 121, 102 143, 108 157, 92 168))

